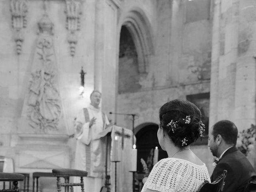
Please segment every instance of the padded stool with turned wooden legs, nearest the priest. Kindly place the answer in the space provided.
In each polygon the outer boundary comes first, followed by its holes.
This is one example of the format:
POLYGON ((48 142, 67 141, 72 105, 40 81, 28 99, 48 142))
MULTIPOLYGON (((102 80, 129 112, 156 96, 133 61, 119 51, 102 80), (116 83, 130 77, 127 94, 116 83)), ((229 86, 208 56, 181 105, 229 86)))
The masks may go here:
POLYGON ((83 177, 87 176, 86 171, 76 170, 76 169, 53 169, 52 174, 57 177, 57 190, 61 192, 61 187, 65 187, 68 191, 68 187, 71 187, 71 192, 73 192, 73 186, 81 186, 81 191, 84 192, 84 180, 83 177), (66 181, 64 183, 60 182, 60 177, 80 177, 80 183, 70 183, 66 181))

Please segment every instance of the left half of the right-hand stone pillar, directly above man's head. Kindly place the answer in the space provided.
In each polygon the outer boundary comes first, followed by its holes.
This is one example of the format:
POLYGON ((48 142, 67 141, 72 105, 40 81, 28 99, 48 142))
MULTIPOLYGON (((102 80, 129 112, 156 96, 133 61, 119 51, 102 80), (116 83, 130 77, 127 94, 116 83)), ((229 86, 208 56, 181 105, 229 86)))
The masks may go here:
POLYGON ((210 127, 217 121, 235 121, 238 58, 238 0, 216 0, 212 38, 210 127))

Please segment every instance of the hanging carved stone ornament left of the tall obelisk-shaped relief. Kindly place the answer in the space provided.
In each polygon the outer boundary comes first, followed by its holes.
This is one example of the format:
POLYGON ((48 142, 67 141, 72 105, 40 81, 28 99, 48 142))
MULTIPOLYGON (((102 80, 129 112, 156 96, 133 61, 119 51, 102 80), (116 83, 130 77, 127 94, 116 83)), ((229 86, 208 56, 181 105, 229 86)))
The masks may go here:
POLYGON ((27 0, 11 0, 12 28, 14 28, 14 40, 16 42, 16 50, 19 55, 22 50, 22 28, 26 28, 26 15, 28 12, 27 0))

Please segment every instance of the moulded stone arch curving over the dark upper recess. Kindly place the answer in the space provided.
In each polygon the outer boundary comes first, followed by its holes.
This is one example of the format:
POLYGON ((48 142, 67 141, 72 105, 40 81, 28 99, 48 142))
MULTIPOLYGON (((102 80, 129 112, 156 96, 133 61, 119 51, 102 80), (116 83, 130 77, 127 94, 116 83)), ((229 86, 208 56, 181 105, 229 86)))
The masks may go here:
POLYGON ((138 54, 140 73, 148 73, 150 56, 154 54, 152 29, 150 22, 141 8, 132 8, 124 17, 121 26, 126 26, 134 40, 138 54))

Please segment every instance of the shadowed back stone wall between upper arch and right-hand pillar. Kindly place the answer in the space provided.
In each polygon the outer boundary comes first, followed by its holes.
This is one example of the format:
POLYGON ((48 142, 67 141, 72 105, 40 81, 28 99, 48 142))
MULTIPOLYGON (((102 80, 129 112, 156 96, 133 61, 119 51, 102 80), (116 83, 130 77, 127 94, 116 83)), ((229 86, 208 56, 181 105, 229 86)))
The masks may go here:
MULTIPOLYGON (((184 22, 184 3, 174 0, 172 3, 146 1, 143 6, 133 4, 144 11, 147 20, 155 21, 147 26, 152 31, 154 52, 150 55, 148 72, 141 74, 140 91, 117 96, 116 112, 138 114, 135 128, 146 122, 158 124, 159 108, 169 100, 210 92, 212 20, 184 22), (152 8, 148 13, 147 10, 152 8)), ((125 16, 125 12, 121 13, 121 18, 125 16)), ((110 118, 116 124, 132 129, 130 116, 112 115, 110 118)), ((204 145, 203 148, 204 152, 199 147, 194 151, 212 170, 208 147, 204 145)))

